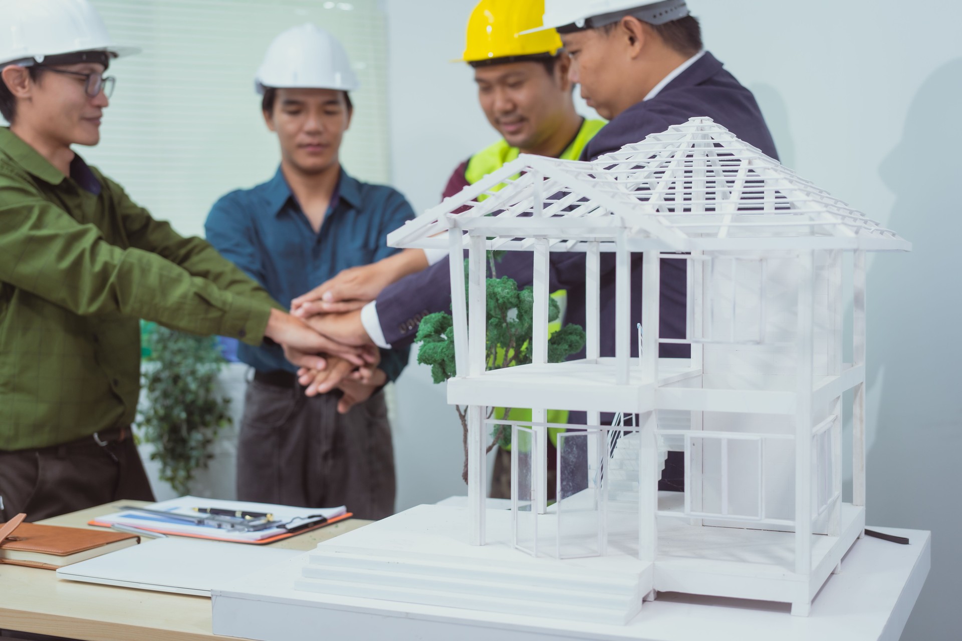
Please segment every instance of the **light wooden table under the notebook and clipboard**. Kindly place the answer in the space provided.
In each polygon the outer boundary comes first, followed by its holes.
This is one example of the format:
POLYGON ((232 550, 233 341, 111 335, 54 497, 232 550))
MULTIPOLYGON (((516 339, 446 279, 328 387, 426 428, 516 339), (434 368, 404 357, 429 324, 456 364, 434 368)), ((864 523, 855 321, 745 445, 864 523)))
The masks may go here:
MULTIPOLYGON (((117 511, 116 505, 90 507, 39 523, 90 528, 87 522, 117 511)), ((370 521, 349 519, 271 544, 313 550, 317 543, 370 521)), ((211 541, 211 545, 231 545, 211 541)), ((51 634, 85 641, 195 641, 227 639, 211 631, 211 600, 165 592, 57 579, 51 570, 0 564, 0 629, 51 634)))

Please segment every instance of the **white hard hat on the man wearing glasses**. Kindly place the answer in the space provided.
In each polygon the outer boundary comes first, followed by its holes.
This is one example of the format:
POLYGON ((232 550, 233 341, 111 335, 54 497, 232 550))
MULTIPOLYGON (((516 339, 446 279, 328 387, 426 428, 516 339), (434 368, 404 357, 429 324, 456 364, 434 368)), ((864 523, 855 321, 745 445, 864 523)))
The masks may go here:
POLYGON ((109 58, 136 54, 117 47, 88 0, 0 0, 0 65, 34 64, 81 51, 109 58))

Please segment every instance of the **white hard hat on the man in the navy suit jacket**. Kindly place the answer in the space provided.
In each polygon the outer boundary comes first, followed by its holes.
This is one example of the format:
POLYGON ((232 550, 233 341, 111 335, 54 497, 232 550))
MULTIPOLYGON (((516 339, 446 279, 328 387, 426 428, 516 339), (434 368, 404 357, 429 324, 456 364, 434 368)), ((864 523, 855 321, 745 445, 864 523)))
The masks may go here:
POLYGON ((685 17, 688 6, 685 0, 544 0, 542 29, 564 33, 602 27, 625 15, 659 25, 685 17))

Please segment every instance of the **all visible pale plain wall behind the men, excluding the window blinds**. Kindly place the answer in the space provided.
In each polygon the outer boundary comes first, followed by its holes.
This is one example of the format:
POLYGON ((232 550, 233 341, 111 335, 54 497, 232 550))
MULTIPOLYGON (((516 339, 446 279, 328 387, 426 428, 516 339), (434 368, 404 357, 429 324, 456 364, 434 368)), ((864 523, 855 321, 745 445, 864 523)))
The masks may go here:
MULTIPOLYGON (((493 139, 456 58, 470 0, 385 0, 392 176, 416 210, 493 139)), ((962 626, 954 545, 962 474, 962 4, 690 0, 707 47, 758 97, 785 164, 915 243, 870 262, 869 523, 933 530, 933 567, 903 639, 962 626)), ((426 368, 398 382, 398 507, 463 492, 460 429, 426 368)), ((956 629, 956 632, 951 632, 956 629)))

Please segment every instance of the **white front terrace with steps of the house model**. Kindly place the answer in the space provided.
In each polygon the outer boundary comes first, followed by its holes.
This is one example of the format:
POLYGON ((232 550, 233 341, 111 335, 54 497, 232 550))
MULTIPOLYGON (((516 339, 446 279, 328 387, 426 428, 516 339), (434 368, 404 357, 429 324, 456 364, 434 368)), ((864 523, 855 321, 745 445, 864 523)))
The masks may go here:
MULTIPOLYGON (((364 535, 318 546, 294 587, 622 625, 651 590, 651 565, 637 558, 594 556, 559 563, 519 553, 504 540, 468 546, 465 514, 460 507, 418 505, 362 529, 364 535)), ((491 510, 491 518, 493 530, 510 531, 510 512, 491 510)), ((550 521, 553 515, 544 518, 550 521)))

